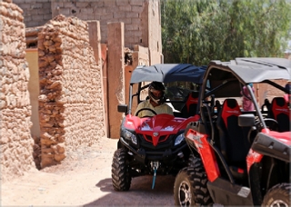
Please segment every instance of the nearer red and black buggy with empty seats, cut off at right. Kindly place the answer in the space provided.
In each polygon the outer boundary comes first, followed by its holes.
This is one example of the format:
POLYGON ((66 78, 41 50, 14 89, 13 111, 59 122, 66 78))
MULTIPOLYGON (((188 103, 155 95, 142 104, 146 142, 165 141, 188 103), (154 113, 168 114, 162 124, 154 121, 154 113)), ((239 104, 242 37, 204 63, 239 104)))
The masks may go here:
POLYGON ((208 65, 198 104, 201 119, 185 132, 191 154, 176 175, 176 205, 291 205, 290 110, 283 98, 289 92, 274 82, 290 77, 291 62, 281 58, 208 65), (278 95, 259 107, 248 84, 267 84, 278 95), (255 111, 244 112, 238 104, 243 86, 255 111))

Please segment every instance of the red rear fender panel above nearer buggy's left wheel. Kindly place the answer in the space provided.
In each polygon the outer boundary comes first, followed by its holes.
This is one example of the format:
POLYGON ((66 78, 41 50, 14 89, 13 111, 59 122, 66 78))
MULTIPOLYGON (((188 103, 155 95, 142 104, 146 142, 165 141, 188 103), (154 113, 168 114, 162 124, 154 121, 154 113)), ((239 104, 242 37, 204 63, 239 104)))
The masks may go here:
POLYGON ((216 162, 216 156, 212 147, 207 143, 207 134, 197 133, 196 131, 189 129, 186 134, 186 139, 192 140, 198 153, 201 155, 202 162, 206 168, 207 178, 210 182, 216 180, 220 176, 220 172, 216 162))

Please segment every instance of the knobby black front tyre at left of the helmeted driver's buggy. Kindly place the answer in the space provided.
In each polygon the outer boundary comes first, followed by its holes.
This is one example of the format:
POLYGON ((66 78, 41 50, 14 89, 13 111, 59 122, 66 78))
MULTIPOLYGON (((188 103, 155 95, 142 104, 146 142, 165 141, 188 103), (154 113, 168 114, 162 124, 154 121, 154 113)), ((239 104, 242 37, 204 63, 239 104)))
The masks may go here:
POLYGON ((131 175, 129 173, 126 157, 127 152, 124 148, 115 151, 111 165, 112 185, 115 191, 124 192, 128 191, 130 188, 131 175))

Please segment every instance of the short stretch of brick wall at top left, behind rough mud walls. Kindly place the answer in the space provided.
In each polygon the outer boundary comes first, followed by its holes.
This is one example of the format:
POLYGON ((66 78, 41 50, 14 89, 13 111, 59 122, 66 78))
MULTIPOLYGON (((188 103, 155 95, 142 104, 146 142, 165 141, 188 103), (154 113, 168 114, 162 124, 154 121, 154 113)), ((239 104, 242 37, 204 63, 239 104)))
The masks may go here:
POLYGON ((13 0, 24 11, 25 26, 45 25, 52 18, 51 0, 13 0))

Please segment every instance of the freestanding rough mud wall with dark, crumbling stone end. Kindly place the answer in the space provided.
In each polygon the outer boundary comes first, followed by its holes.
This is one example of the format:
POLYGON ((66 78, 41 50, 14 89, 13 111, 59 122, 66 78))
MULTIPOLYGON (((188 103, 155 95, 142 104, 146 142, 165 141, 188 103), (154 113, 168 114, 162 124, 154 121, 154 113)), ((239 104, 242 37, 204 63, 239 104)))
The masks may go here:
POLYGON ((105 135, 101 68, 88 25, 57 15, 38 34, 42 168, 105 135))

